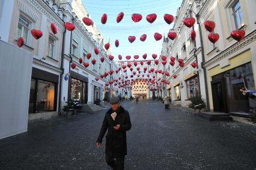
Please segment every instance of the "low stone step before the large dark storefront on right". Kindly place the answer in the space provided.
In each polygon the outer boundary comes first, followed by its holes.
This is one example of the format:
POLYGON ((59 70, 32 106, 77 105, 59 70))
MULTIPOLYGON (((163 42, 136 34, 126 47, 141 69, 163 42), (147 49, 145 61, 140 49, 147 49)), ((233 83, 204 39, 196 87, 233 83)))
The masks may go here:
POLYGON ((201 112, 201 117, 206 118, 209 121, 232 121, 231 114, 225 114, 222 112, 201 112))

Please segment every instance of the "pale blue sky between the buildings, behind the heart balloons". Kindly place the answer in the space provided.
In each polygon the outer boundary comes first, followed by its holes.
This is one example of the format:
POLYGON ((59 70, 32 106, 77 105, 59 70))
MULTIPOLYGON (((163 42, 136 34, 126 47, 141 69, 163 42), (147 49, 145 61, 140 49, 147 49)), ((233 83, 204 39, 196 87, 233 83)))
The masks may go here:
POLYGON ((175 17, 177 8, 180 7, 182 0, 153 0, 153 1, 135 1, 135 0, 82 0, 85 9, 91 15, 93 22, 103 35, 106 42, 110 41, 112 46, 112 55, 114 60, 119 61, 118 55, 123 56, 122 61, 126 61, 125 56, 130 55, 132 61, 134 55, 139 55, 139 59, 143 60, 142 55, 147 53, 147 59, 153 59, 152 54, 160 55, 162 50, 163 38, 159 41, 154 39, 154 33, 165 35, 172 28, 173 23, 168 25, 163 19, 163 15, 168 13, 175 17), (123 12, 124 17, 121 22, 117 23, 117 15, 123 12), (108 15, 106 24, 101 23, 102 14, 108 15), (132 14, 139 13, 142 15, 140 22, 133 22, 132 14), (157 18, 153 23, 146 20, 148 14, 156 13, 157 18), (147 34, 145 41, 140 41, 141 35, 147 34), (136 37, 133 43, 128 41, 129 35, 136 37), (115 47, 115 40, 118 39, 120 45, 115 47))

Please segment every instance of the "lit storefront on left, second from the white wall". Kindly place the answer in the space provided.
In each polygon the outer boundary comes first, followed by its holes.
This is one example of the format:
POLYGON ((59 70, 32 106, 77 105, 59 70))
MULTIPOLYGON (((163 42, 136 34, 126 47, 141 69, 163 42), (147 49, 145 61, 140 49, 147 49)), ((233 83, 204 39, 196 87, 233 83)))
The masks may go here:
POLYGON ((70 99, 78 100, 79 103, 87 103, 88 78, 74 71, 71 71, 70 76, 70 99))

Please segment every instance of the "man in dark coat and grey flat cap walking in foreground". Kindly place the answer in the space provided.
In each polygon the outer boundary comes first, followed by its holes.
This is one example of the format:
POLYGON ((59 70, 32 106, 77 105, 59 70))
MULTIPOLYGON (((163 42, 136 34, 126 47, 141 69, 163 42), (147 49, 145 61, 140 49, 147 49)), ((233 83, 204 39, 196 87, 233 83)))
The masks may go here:
POLYGON ((113 169, 124 169, 124 156, 127 154, 126 131, 130 130, 129 112, 120 106, 120 99, 112 97, 109 101, 109 109, 103 120, 102 129, 100 130, 96 146, 102 144, 103 136, 106 135, 106 163, 113 169))

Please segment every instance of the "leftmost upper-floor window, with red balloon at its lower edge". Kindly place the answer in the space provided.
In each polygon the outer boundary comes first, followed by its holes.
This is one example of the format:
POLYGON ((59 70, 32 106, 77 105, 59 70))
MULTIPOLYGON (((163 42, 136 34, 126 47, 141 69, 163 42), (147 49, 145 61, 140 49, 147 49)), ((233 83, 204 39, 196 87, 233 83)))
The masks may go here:
POLYGON ((29 30, 29 22, 24 17, 19 17, 19 23, 17 27, 17 39, 19 37, 24 38, 24 44, 27 44, 28 41, 28 30, 29 30))

